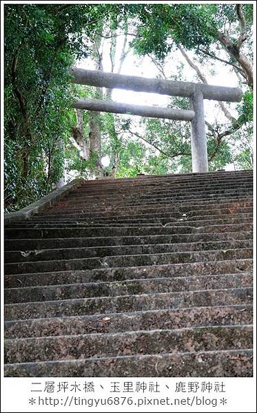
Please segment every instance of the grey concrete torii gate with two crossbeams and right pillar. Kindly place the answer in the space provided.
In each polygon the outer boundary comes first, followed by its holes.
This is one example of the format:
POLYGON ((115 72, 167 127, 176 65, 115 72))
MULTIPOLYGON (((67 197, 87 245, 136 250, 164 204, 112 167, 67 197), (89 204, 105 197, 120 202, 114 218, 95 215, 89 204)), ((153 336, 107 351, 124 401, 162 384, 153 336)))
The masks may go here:
POLYGON ((96 112, 112 112, 116 114, 134 114, 154 118, 191 121, 192 171, 207 172, 207 140, 205 134, 205 114, 203 100, 219 100, 238 102, 242 98, 242 90, 236 87, 206 85, 166 81, 140 76, 107 73, 98 70, 84 70, 77 67, 71 70, 72 82, 80 85, 106 87, 107 89, 127 89, 135 92, 149 92, 182 96, 189 98, 192 110, 169 109, 161 107, 127 105, 110 100, 77 99, 74 107, 96 112))

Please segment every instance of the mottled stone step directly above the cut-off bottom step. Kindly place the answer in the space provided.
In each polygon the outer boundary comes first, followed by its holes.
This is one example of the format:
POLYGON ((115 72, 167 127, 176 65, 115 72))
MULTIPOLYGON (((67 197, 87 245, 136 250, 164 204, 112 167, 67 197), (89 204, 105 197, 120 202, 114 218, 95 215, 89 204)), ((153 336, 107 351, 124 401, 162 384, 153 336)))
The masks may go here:
POLYGON ((251 326, 212 326, 61 337, 6 339, 6 363, 115 357, 163 352, 240 350, 252 346, 251 326))

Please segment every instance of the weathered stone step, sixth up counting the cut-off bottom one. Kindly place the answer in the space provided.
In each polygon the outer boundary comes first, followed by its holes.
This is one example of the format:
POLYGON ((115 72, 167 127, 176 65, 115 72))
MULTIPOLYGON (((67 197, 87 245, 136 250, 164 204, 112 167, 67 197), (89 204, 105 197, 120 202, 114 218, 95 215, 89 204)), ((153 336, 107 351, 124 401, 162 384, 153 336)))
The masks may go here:
POLYGON ((57 271, 50 273, 6 275, 6 288, 21 286, 46 286, 85 282, 116 282, 127 279, 156 277, 187 277, 194 275, 221 275, 252 271, 252 260, 222 260, 215 262, 191 262, 148 267, 94 268, 83 271, 57 271))

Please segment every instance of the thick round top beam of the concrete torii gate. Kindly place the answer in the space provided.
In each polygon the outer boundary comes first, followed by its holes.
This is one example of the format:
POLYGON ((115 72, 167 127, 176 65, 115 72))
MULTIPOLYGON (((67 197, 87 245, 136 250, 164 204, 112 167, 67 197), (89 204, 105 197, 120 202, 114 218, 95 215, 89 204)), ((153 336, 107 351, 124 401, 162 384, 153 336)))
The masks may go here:
POLYGON ((187 98, 191 97, 196 90, 200 90, 203 93, 204 99, 225 102, 238 102, 242 97, 242 90, 237 87, 127 76, 124 74, 102 72, 101 70, 85 70, 78 67, 73 67, 70 73, 73 83, 106 87, 107 89, 127 89, 134 90, 135 92, 158 93, 187 98))

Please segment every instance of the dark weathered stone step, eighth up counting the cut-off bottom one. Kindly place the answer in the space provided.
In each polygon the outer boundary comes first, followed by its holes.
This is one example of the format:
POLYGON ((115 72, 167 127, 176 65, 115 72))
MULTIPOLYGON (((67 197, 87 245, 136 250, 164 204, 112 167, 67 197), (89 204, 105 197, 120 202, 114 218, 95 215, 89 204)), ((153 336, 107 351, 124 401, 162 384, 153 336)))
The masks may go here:
POLYGON ((29 262, 70 260, 73 258, 106 257, 110 255, 138 255, 174 253, 176 251, 209 251, 215 249, 251 248, 252 240, 230 240, 214 242, 183 242, 176 244, 147 244, 147 245, 121 245, 78 248, 34 249, 30 251, 5 251, 5 262, 29 262))

